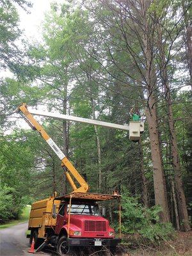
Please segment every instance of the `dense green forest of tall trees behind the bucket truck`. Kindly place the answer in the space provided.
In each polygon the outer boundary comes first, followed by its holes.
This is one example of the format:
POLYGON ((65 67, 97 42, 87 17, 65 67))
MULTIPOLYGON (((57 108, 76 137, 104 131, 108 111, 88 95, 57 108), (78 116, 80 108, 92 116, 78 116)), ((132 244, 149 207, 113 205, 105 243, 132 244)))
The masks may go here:
MULTIPOLYGON (((23 38, 17 6, 30 12, 25 0, 0 3, 0 65, 13 74, 0 81, 1 223, 54 191, 70 192, 60 160, 38 133, 19 127, 16 109, 27 102, 116 124, 129 124, 130 109, 139 108, 145 132, 138 143, 125 131, 41 123, 92 192, 123 195, 124 233, 154 240, 173 227, 190 230, 190 1, 52 3, 43 42, 33 44, 23 38)), ((106 207, 115 225, 116 205, 106 207)))

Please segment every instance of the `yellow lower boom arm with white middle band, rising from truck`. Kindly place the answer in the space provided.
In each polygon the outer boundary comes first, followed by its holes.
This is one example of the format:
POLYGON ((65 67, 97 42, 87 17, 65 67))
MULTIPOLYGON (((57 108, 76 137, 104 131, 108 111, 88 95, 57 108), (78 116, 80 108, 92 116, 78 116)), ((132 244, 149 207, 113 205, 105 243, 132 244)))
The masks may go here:
POLYGON ((26 103, 22 103, 18 109, 19 111, 22 111, 22 113, 26 116, 25 120, 30 125, 30 127, 32 129, 37 130, 41 134, 44 140, 49 144, 52 150, 60 158, 61 166, 67 167, 67 170, 64 169, 65 175, 67 177, 68 182, 70 183, 70 186, 72 187, 72 189, 74 189, 73 192, 86 193, 89 188, 88 184, 83 179, 83 177, 79 174, 79 172, 77 172, 76 168, 74 168, 74 166, 70 163, 70 161, 68 161, 67 157, 63 154, 63 152, 60 150, 58 145, 54 143, 54 141, 49 137, 47 132, 45 132, 43 127, 40 124, 38 124, 38 122, 35 120, 33 115, 29 113, 26 103), (76 184, 74 183, 74 181, 72 180, 72 177, 70 177, 70 174, 68 172, 70 172, 73 175, 73 177, 77 180, 77 182, 80 184, 79 188, 76 187, 76 184))

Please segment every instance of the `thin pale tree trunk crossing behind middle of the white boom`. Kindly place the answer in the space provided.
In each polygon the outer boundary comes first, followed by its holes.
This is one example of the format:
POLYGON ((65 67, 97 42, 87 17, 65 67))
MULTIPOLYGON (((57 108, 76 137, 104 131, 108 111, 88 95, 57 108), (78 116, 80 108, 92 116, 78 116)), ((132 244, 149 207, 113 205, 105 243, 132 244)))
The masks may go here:
MULTIPOLYGON (((93 99, 92 101, 92 116, 93 119, 96 119, 95 116, 95 102, 93 99)), ((100 138, 99 138, 99 133, 97 129, 97 125, 94 125, 95 128, 95 135, 97 138, 97 155, 98 155, 98 164, 99 164, 99 192, 101 193, 101 188, 102 188, 102 170, 101 170, 101 150, 100 150, 100 138)))

